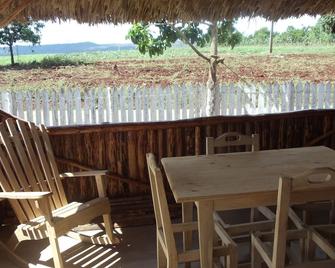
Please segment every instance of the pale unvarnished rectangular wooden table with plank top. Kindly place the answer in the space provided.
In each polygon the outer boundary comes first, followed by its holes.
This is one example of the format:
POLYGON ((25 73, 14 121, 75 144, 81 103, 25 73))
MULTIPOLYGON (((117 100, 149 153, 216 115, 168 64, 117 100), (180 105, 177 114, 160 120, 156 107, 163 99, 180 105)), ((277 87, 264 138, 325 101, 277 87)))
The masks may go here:
MULTIPOLYGON (((201 267, 213 263, 213 211, 275 205, 278 178, 306 169, 335 168, 335 151, 304 147, 258 152, 163 158, 178 203, 195 202, 198 209, 201 267)), ((330 192, 292 195, 292 203, 335 199, 330 192)))

